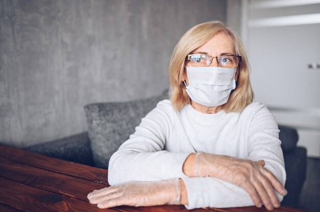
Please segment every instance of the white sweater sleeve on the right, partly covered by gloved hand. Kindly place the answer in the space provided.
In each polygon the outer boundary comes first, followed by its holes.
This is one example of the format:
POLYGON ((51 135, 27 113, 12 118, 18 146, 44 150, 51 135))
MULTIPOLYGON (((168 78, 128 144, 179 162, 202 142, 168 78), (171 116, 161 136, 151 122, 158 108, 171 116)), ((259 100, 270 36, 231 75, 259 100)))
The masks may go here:
MULTIPOLYGON (((248 159, 264 160, 264 168, 284 185, 286 172, 277 122, 264 105, 260 104, 259 110, 255 111, 247 132, 248 159)), ((188 209, 254 205, 249 194, 232 183, 212 177, 183 178, 183 180, 188 193, 189 205, 185 205, 188 209)), ((276 195, 279 201, 282 201, 283 196, 277 192, 276 195)))

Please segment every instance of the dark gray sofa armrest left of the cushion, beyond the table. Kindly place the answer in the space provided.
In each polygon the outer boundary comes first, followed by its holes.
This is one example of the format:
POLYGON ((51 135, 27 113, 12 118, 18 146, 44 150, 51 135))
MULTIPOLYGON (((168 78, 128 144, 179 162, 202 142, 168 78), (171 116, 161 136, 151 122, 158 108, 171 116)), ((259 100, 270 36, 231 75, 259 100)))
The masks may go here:
POLYGON ((94 166, 93 154, 87 132, 36 144, 25 147, 24 149, 66 161, 94 166))

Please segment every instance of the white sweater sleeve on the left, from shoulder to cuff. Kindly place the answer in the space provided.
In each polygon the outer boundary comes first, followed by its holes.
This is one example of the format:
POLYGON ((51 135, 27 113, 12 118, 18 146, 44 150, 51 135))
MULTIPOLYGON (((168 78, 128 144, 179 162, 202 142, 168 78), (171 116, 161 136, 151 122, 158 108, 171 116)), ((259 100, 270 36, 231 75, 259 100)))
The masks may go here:
POLYGON ((161 101, 135 128, 109 161, 108 182, 158 181, 186 177, 182 166, 191 152, 163 150, 172 129, 167 100, 161 101))

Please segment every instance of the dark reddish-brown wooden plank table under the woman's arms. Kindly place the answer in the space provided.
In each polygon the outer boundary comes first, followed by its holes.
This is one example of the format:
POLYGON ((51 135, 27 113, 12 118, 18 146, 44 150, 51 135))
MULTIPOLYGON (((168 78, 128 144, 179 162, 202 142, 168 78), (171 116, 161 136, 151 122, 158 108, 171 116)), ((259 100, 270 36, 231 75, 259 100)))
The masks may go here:
MULTIPOLYGON (((109 187, 108 171, 0 145, 0 211, 189 211, 183 205, 100 209, 87 194, 109 187)), ((198 208, 190 211, 268 211, 198 208)), ((303 211, 281 206, 274 211, 303 211)))

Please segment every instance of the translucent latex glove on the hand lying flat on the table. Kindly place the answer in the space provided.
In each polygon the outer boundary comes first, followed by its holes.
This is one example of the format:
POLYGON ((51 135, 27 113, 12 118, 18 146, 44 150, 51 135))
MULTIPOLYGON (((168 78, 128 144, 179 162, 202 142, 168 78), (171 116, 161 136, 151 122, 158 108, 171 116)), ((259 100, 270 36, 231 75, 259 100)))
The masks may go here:
POLYGON ((130 181, 95 190, 87 195, 89 202, 99 208, 119 205, 151 206, 180 204, 179 179, 155 182, 130 181))

